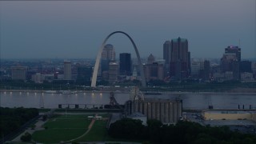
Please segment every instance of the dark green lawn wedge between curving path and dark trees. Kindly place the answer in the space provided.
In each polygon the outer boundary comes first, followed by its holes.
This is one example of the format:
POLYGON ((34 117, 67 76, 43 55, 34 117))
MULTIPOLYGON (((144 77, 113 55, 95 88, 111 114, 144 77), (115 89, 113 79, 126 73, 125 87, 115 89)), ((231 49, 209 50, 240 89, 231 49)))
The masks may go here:
POLYGON ((107 121, 96 120, 90 132, 75 142, 106 141, 108 139, 106 122, 107 121))

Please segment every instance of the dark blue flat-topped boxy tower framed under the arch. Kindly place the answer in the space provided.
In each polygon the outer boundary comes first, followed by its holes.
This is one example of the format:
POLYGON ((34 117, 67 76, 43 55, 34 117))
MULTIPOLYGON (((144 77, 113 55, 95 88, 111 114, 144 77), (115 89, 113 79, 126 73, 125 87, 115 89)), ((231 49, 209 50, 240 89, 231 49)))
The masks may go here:
POLYGON ((130 54, 119 54, 119 73, 120 75, 131 75, 131 58, 130 54))

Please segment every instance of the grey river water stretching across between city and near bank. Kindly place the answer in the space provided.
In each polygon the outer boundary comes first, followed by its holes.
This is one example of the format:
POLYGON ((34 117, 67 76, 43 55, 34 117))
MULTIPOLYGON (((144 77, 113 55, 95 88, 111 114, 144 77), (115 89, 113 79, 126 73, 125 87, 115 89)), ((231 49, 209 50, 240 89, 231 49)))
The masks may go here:
MULTIPOLYGON (((172 99, 181 98, 184 109, 207 109, 209 105, 214 109, 256 109, 256 94, 217 94, 217 93, 176 93, 144 95, 145 98, 172 99)), ((130 94, 114 94, 119 104, 130 99, 130 94)), ((2 107, 45 107, 58 108, 58 104, 93 104, 105 105, 110 103, 110 93, 78 93, 78 94, 48 94, 35 92, 1 92, 2 107)))

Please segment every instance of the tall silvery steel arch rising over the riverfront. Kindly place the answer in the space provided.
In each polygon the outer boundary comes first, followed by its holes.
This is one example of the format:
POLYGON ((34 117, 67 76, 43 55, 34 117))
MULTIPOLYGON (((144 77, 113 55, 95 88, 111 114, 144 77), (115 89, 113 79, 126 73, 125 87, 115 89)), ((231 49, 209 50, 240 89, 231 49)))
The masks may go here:
POLYGON ((134 50, 136 52, 136 55, 137 55, 137 58, 138 58, 138 66, 139 66, 139 70, 140 70, 140 73, 141 73, 141 78, 142 78, 142 86, 143 87, 146 87, 146 80, 145 80, 145 77, 144 77, 144 71, 143 71, 143 67, 142 67, 142 61, 141 61, 141 58, 138 54, 138 49, 137 49, 137 46, 135 45, 134 43, 134 40, 132 38, 130 38, 130 35, 126 34, 125 32, 122 32, 122 31, 114 31, 113 33, 109 34, 104 42, 102 43, 102 46, 100 48, 100 50, 98 51, 98 55, 97 55, 97 58, 96 58, 96 62, 95 62, 95 66, 94 66, 94 74, 93 74, 93 78, 92 78, 92 81, 91 81, 91 87, 96 87, 96 81, 97 81, 97 76, 98 76, 98 66, 99 66, 99 61, 101 60, 102 58, 102 50, 106 44, 106 41, 113 35, 113 34, 125 34, 126 37, 128 37, 130 39, 130 42, 133 44, 134 46, 134 50))

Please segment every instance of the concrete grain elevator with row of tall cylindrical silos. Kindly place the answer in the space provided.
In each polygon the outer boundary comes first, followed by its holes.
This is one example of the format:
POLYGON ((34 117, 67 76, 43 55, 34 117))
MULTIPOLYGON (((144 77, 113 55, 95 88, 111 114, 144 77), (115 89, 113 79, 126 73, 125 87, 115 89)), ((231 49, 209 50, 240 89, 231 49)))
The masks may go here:
POLYGON ((142 113, 147 119, 157 119, 162 123, 176 123, 182 118, 182 100, 176 99, 144 99, 138 89, 131 91, 131 98, 125 104, 126 117, 134 113, 142 113))

